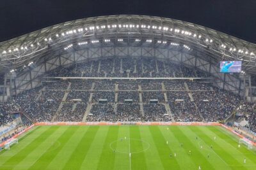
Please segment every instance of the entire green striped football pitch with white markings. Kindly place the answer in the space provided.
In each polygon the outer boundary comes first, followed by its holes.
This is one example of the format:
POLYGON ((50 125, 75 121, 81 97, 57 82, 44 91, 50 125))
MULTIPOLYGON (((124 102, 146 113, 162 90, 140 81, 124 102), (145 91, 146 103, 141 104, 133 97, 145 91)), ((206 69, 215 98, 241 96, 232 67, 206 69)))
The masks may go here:
POLYGON ((238 141, 218 126, 36 126, 0 152, 0 169, 256 169, 238 141))

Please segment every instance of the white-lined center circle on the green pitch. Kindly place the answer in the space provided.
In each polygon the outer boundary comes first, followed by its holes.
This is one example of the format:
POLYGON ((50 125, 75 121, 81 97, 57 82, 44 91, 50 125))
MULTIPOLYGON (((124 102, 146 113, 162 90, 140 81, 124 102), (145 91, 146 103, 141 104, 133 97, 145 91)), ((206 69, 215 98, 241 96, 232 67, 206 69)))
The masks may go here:
POLYGON ((150 144, 142 139, 120 138, 109 144, 111 150, 117 153, 141 153, 150 148, 150 144))

